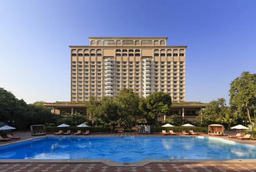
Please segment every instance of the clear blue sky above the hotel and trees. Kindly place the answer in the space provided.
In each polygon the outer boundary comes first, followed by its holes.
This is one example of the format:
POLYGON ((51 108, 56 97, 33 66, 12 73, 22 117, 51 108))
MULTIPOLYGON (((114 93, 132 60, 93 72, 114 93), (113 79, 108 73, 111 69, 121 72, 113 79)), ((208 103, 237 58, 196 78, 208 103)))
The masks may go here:
POLYGON ((256 72, 256 0, 1 0, 0 87, 27 103, 70 101, 70 45, 167 36, 187 45, 186 101, 228 99, 256 72))

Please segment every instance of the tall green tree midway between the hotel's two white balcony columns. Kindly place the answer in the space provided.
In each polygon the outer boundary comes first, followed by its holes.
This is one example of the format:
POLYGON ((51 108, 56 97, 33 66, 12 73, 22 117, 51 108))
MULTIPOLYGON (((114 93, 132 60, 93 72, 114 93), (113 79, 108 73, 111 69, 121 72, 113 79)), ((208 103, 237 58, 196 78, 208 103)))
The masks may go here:
POLYGON ((126 129, 139 119, 139 95, 133 89, 122 89, 114 98, 120 114, 120 122, 126 129))

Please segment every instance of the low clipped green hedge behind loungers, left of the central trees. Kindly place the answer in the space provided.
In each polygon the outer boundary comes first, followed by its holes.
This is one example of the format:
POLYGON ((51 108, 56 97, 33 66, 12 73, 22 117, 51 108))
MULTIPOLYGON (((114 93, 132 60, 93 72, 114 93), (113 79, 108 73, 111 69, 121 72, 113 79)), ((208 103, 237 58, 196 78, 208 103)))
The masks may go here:
POLYGON ((111 132, 110 127, 45 127, 46 132, 59 132, 59 130, 63 130, 66 132, 67 130, 71 130, 71 132, 77 132, 77 130, 81 130, 85 132, 86 130, 90 130, 90 132, 111 132))

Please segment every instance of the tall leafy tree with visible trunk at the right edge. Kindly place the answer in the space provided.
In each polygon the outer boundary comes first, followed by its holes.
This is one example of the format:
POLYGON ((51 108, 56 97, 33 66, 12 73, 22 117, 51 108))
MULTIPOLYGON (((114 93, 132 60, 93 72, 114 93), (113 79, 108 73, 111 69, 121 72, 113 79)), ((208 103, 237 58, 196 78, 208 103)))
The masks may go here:
POLYGON ((256 112, 256 74, 245 71, 234 79, 229 89, 229 104, 238 111, 246 111, 251 122, 251 114, 256 112))

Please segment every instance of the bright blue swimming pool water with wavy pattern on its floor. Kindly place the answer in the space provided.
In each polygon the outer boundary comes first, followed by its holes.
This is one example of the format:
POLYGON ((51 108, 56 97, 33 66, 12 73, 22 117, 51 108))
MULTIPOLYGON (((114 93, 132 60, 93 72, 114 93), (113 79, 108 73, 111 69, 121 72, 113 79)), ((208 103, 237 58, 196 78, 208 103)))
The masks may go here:
POLYGON ((0 146, 0 159, 256 159, 256 147, 209 137, 46 137, 0 146))

